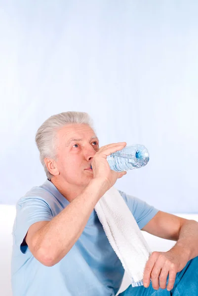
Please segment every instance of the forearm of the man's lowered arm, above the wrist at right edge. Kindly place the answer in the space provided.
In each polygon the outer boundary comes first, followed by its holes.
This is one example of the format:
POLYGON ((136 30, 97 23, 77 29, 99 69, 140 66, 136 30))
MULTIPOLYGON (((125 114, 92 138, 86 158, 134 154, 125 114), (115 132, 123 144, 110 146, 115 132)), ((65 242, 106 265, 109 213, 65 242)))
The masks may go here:
POLYGON ((179 233, 179 238, 172 250, 178 251, 187 258, 187 262, 198 256, 198 222, 186 221, 179 233))

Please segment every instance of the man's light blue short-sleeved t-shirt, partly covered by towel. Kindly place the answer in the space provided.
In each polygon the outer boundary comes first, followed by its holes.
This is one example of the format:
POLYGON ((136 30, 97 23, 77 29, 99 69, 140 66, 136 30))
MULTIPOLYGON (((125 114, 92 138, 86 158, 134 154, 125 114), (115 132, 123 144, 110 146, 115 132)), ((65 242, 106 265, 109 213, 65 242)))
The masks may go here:
MULTIPOLYGON (((119 190, 142 229, 158 212, 145 201, 119 190)), ((115 296, 124 269, 93 210, 67 255, 53 266, 45 266, 22 244, 29 227, 51 221, 69 201, 49 180, 33 187, 16 204, 13 225, 11 283, 13 296, 115 296), (22 246, 21 246, 22 244, 22 246)))

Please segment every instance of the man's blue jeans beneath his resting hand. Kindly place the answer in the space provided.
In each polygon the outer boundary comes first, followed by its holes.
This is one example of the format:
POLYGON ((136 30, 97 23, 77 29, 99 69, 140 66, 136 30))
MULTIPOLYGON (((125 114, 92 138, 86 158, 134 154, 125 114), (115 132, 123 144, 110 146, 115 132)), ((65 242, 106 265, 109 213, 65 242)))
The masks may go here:
POLYGON ((174 287, 171 291, 167 291, 168 285, 167 276, 166 289, 153 289, 150 280, 150 286, 132 287, 131 285, 119 296, 198 296, 198 257, 188 261, 186 266, 177 272, 174 287))

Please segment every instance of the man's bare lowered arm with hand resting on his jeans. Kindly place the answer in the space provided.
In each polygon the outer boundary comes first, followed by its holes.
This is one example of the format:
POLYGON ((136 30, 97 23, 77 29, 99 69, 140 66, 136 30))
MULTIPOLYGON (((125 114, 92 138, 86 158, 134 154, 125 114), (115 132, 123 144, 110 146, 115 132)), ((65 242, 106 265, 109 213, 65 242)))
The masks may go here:
POLYGON ((158 211, 141 230, 177 241, 167 252, 153 252, 144 270, 145 288, 149 286, 151 278, 155 290, 159 289, 159 285, 161 289, 165 289, 169 274, 167 290, 170 291, 174 287, 176 273, 181 271, 189 260, 198 256, 198 222, 158 211))

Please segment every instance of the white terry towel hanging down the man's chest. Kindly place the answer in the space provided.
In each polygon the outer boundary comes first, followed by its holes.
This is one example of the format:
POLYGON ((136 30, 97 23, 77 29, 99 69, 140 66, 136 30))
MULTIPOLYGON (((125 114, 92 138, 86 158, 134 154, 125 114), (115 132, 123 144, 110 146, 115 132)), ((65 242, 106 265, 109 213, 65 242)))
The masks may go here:
POLYGON ((144 268, 152 252, 118 189, 111 187, 94 209, 132 287, 143 286, 144 268))

